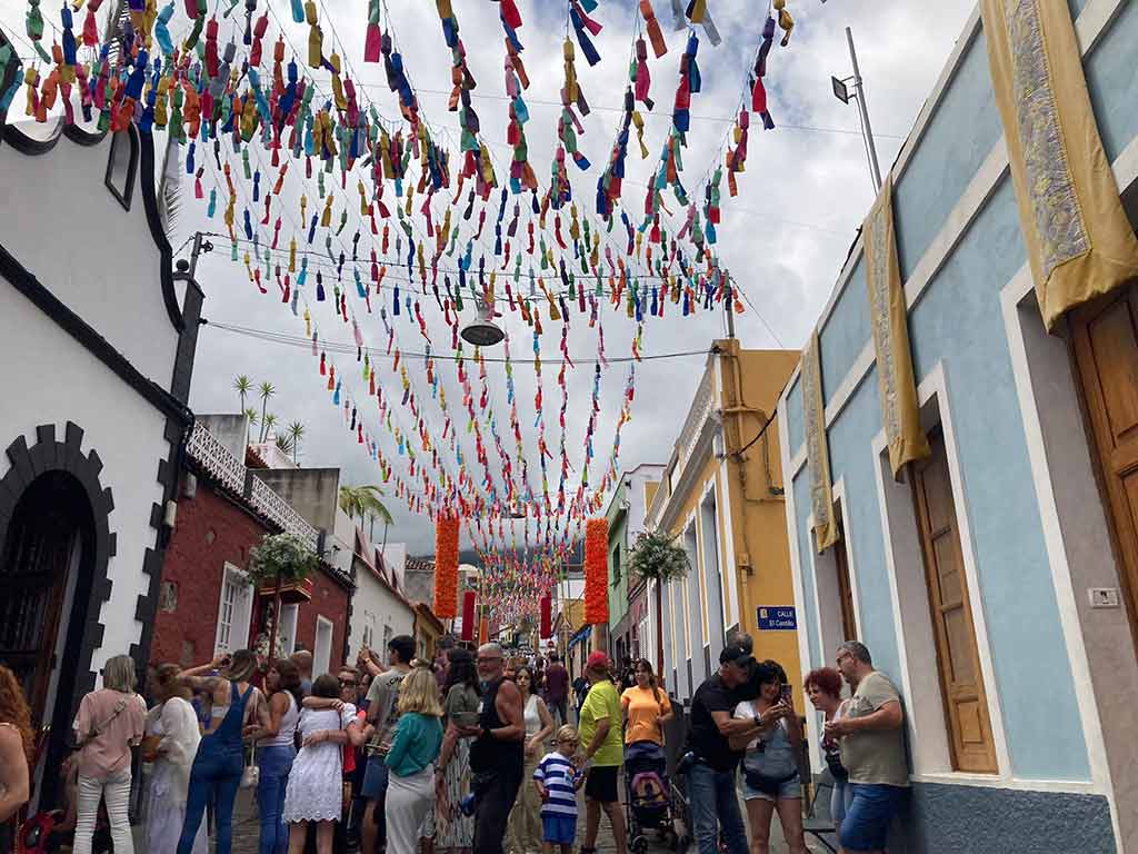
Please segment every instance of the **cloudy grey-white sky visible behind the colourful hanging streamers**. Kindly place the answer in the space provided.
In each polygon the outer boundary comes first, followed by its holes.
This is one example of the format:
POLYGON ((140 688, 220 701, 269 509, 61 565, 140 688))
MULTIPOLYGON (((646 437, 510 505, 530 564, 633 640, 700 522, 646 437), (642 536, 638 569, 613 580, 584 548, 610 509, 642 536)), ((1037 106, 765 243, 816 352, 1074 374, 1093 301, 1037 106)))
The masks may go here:
MULTIPOLYGON (((265 1, 259 0, 261 6, 265 1)), ((483 139, 492 147, 498 180, 503 183, 511 151, 505 146, 506 101, 501 98, 504 85, 498 3, 490 0, 453 0, 453 6, 467 47, 469 66, 478 81, 473 105, 480 117, 483 139)), ((530 113, 526 136, 530 162, 544 191, 550 161, 556 146, 559 107, 555 104, 562 80, 564 3, 561 0, 518 0, 518 6, 525 20, 519 31, 526 48, 522 58, 531 80, 529 89, 523 92, 530 113)), ((640 224, 642 219, 644 181, 657 163, 670 123, 685 40, 684 33, 673 30, 669 0, 654 0, 653 6, 668 41, 668 54, 660 59, 650 58, 651 95, 657 104, 654 114, 645 113, 649 158, 641 161, 635 138, 629 143, 624 203, 634 224, 640 224)), ((693 196, 701 187, 701 176, 714 167, 717 158, 721 162, 723 143, 731 131, 729 120, 737 112, 745 72, 761 38, 766 3, 710 0, 708 6, 724 40, 718 47, 712 47, 703 31, 699 31, 698 61, 703 91, 692 97, 692 130, 688 133, 688 147, 683 155, 682 174, 693 196)), ((728 198, 726 176, 723 180, 723 223, 718 228, 719 243, 716 248, 721 265, 732 271, 753 305, 753 310, 749 307, 745 314, 736 318, 736 334, 744 346, 784 346, 794 350, 802 346, 833 287, 856 229, 873 200, 865 150, 858 134, 857 108, 853 104, 842 105, 831 93, 831 75, 841 77, 851 73, 844 28, 851 26, 857 40, 882 171, 885 171, 897 156, 905 134, 935 83, 973 6, 973 0, 828 0, 826 3, 819 0, 790 1, 789 7, 797 26, 787 48, 780 48, 776 40, 766 79, 770 112, 780 128, 764 132, 761 122, 752 116, 747 172, 739 176, 740 192, 736 198, 728 198)), ((51 3, 43 5, 44 16, 58 23, 58 11, 51 7, 51 3)), ((187 28, 182 7, 181 2, 176 6, 175 38, 187 28)), ((457 114, 446 110, 451 88, 450 51, 443 40, 435 3, 428 0, 389 0, 387 7, 390 10, 396 44, 403 52, 405 68, 419 92, 421 114, 435 130, 436 137, 455 149, 459 139, 457 114), (445 133, 443 129, 446 129, 445 133)), ((0 26, 23 35, 24 8, 23 3, 14 0, 0 0, 0 26)), ((307 26, 291 24, 288 2, 273 0, 273 9, 289 27, 288 38, 291 43, 304 51, 307 26)), ((366 9, 364 0, 323 0, 320 17, 324 32, 324 54, 329 55, 335 47, 347 59, 345 72, 356 80, 361 99, 374 102, 384 115, 395 116, 396 100, 387 89, 382 65, 364 65, 362 61, 366 9), (347 43, 341 44, 339 36, 347 43)), ((239 18, 239 13, 240 7, 233 19, 239 18)), ((579 81, 593 108, 592 114, 583 118, 585 133, 579 137, 580 149, 593 166, 587 172, 569 166, 574 198, 583 215, 594 207, 596 180, 618 128, 635 13, 636 3, 633 0, 601 0, 593 17, 604 26, 595 39, 602 60, 591 68, 578 50, 579 81)), ((81 26, 84 14, 76 15, 77 27, 81 26)), ((230 26, 232 25, 228 22, 223 25, 223 39, 230 26)), ((271 39, 275 38, 275 31, 277 23, 272 20, 271 39)), ((28 52, 18 41, 17 46, 22 54, 28 52)), ((269 39, 265 55, 269 58, 272 56, 269 39)), ((327 81, 327 75, 324 80, 327 81)), ((323 90, 328 91, 327 82, 323 90)), ((20 95, 17 97, 17 108, 22 101, 20 95)), ((643 107, 640 108, 643 113, 643 107)), ((13 112, 16 113, 17 109, 13 112)), ((198 151, 199 164, 204 159, 203 154, 198 151)), ((267 163, 263 153, 259 156, 267 163)), ((456 171, 457 158, 452 163, 452 169, 456 171)), ((254 166, 256 165, 255 155, 254 166)), ((239 159, 233 159, 233 167, 238 166, 239 159)), ((294 221, 298 220, 297 199, 302 191, 308 195, 310 216, 318 205, 322 207, 316 198, 315 181, 307 187, 303 186, 295 180, 298 178, 295 174, 297 171, 299 170, 294 169, 290 173, 289 187, 282 196, 286 207, 291 208, 294 221)), ((349 180, 347 199, 349 210, 357 211, 355 180, 349 180)), ((262 181, 264 187, 269 179, 263 176, 262 181)), ((213 186, 209 174, 204 184, 208 195, 213 186)), ((339 203, 344 198, 339 181, 329 181, 328 187, 335 187, 339 203)), ((187 184, 185 189, 183 210, 171 241, 175 247, 196 229, 223 229, 221 211, 224 208, 224 194, 218 194, 218 213, 211 221, 206 219, 205 203, 196 202, 192 197, 192 183, 187 184)), ((391 202, 390 188, 385 198, 391 202)), ((487 243, 490 248, 493 213, 497 210, 496 195, 493 198, 484 233, 484 240, 485 235, 489 235, 487 243)), ((528 200, 528 197, 523 198, 528 200)), ((675 207, 670 191, 666 200, 670 207, 675 207)), ((511 208, 512 202, 513 199, 510 202, 511 208)), ((242 207, 244 203, 239 202, 238 222, 242 207)), ((337 204, 337 216, 340 207, 337 204)), ((508 208, 508 215, 511 208, 508 208)), ((439 198, 435 205, 437 220, 442 219, 443 210, 439 198)), ((258 214, 254 221, 257 219, 258 214)), ((343 235, 349 251, 355 228, 354 217, 343 235)), ((564 228, 568 228, 568 216, 564 228)), ((617 235, 619 230, 618 221, 613 233, 617 235)), ((393 244, 397 231, 393 224, 393 244)), ((263 238, 269 236, 263 232, 263 238)), ((366 231, 364 236, 369 237, 366 231)), ((464 231, 460 239, 460 251, 465 239, 464 231)), ((217 251, 204 256, 198 266, 198 281, 206 294, 205 317, 211 321, 303 335, 303 322, 280 303, 275 286, 270 285, 270 294, 262 296, 249 282, 244 265, 229 260, 228 246, 221 240, 214 243, 217 251)), ((322 245, 320 238, 318 244, 322 245)), ((366 245, 366 239, 361 245, 366 245)), ((336 251, 339 251, 339 246, 336 251)), ((404 254, 405 252, 404 248, 404 254)), ((476 264, 477 257, 476 252, 476 264)), ((445 260, 443 265, 447 265, 445 260)), ((365 279, 366 272, 364 268, 365 279)), ((395 274, 396 271, 390 272, 395 274)), ((405 272, 404 268, 403 273, 405 272)), ((351 278, 346 281, 351 282, 351 278)), ((331 284, 331 277, 325 277, 325 286, 331 284)), ((328 289, 330 294, 331 288, 328 289)), ((349 305, 361 312, 361 329, 365 342, 371 346, 386 346, 387 336, 378 314, 369 317, 363 313, 365 310, 362 301, 356 305, 354 286, 349 293, 349 305)), ((312 288, 308 288, 308 294, 312 294, 312 288)), ((373 301, 373 304, 378 312, 378 301, 373 301)), ((330 307, 331 299, 319 306, 315 303, 313 305, 322 337, 332 342, 353 340, 352 327, 337 322, 330 307)), ((435 352, 451 353, 450 329, 437 317, 434 298, 424 297, 422 307, 428 315, 435 352)), ((668 309, 668 317, 662 321, 652 319, 645 325, 644 353, 706 350, 714 338, 724 334, 724 321, 719 313, 679 319, 676 317, 677 312, 671 311, 673 306, 669 305, 668 309)), ((502 322, 511 335, 511 355, 514 359, 531 358, 529 329, 520 319, 506 313, 508 317, 502 322)), ((470 317, 472 312, 468 302, 465 319, 470 317)), ((397 340, 401 346, 405 351, 421 351, 423 340, 418 326, 407 323, 406 318, 399 320, 402 322, 397 326, 397 340)), ((574 313, 569 350, 575 359, 593 358, 596 353, 596 330, 589 330, 586 321, 587 314, 574 313)), ((546 322, 545 326, 542 356, 543 360, 553 361, 559 358, 560 325, 546 322)), ((602 311, 602 326, 607 355, 610 359, 628 355, 635 325, 626 319, 624 311, 602 311)), ((501 347, 494 348, 493 353, 487 351, 486 355, 501 355, 501 347)), ((397 457, 394 441, 380 427, 374 404, 366 401, 366 387, 354 359, 338 356, 337 360, 345 369, 346 386, 354 388, 357 396, 368 404, 363 407, 364 424, 373 436, 380 438, 389 458, 396 460, 397 474, 405 475, 406 466, 397 457)), ((644 362, 636 367, 633 420, 625 425, 620 438, 621 469, 627 470, 642 462, 667 461, 702 375, 703 364, 703 356, 688 356, 644 362)), ((401 391, 399 377, 391 371, 390 360, 380 360, 380 366, 384 385, 396 392, 401 391)), ((460 413, 462 395, 453 366, 439 362, 437 370, 446 389, 451 412, 460 413)), ((601 412, 593 440, 595 459, 589 466, 591 486, 600 482, 613 445, 627 370, 627 364, 613 363, 602 376, 601 412)), ((556 371, 556 364, 546 364, 543 371, 546 441, 554 455, 560 438, 558 410, 561 405, 556 371)), ((355 444, 354 435, 347 432, 341 413, 332 405, 330 394, 324 391, 323 378, 319 377, 316 362, 307 350, 205 327, 198 339, 195 363, 190 400, 193 410, 203 413, 237 411, 238 397, 232 391, 232 380, 238 373, 246 373, 255 381, 273 383, 277 396, 270 402, 270 411, 275 412, 280 421, 299 419, 304 422, 305 440, 300 455, 305 465, 338 466, 343 470, 341 483, 378 482, 374 463, 355 444)), ((514 445, 508 422, 504 372, 501 366, 488 366, 488 373, 490 401, 498 432, 512 457, 514 445)), ((421 360, 411 363, 410 376, 420 401, 429 401, 421 360)), ((533 426, 533 368, 516 366, 514 379, 519 418, 527 455, 531 460, 530 483, 539 491, 536 430, 533 426)), ((567 447, 574 471, 570 473, 567 490, 571 495, 580 479, 580 466, 584 461, 584 436, 593 387, 592 366, 583 364, 570 371, 569 384, 567 447)), ((477 375, 475 393, 478 394, 477 375)), ((442 416, 437 404, 431 403, 426 410, 438 435, 442 432, 442 416)), ((404 428, 409 429, 412 424, 410 414, 402 413, 402 419, 404 428)), ((456 420, 468 465, 475 477, 480 478, 480 467, 473 460, 473 441, 464 432, 465 418, 459 416, 456 420)), ((485 427, 484 432, 486 441, 490 442, 485 427)), ((497 455, 493 449, 488 449, 488 453, 492 474, 497 477, 497 455)), ((514 466, 519 467, 518 460, 514 460, 514 466)), ((455 467, 448 465, 448 470, 453 473, 455 467)), ((558 471, 558 460, 554 459, 550 471, 551 490, 556 488, 558 471)), ((427 518, 410 514, 405 506, 399 506, 394 500, 388 501, 388 506, 396 519, 389 540, 407 542, 412 553, 430 553, 434 549, 434 532, 427 518)), ((521 535, 520 525, 518 535, 521 535)))

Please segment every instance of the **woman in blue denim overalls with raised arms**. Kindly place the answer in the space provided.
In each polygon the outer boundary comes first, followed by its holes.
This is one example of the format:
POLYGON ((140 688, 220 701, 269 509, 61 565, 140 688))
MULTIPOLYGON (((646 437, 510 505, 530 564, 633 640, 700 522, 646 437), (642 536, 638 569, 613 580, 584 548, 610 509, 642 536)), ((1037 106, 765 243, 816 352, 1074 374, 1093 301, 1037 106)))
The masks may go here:
MULTIPOLYGON (((190 770, 190 790, 185 799, 185 823, 178 843, 178 854, 191 854, 206 804, 214 806, 217 826, 216 854, 230 854, 233 836, 233 800, 245 770, 242 733, 256 717, 259 725, 270 723, 267 704, 249 684, 257 667, 257 657, 247 649, 220 656, 211 667, 222 667, 220 675, 182 674, 184 682, 197 691, 212 695, 209 725, 203 733, 198 754, 190 770)), ((206 670, 206 668, 200 668, 206 670)))

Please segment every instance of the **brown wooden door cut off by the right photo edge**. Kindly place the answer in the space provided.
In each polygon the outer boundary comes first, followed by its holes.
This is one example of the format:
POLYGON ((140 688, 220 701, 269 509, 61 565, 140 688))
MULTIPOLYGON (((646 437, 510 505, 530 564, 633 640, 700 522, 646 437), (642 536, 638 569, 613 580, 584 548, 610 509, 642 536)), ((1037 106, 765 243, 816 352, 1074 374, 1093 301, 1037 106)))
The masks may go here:
POLYGON ((1138 616, 1138 293, 1071 313, 1071 344, 1095 443, 1131 626, 1138 616))

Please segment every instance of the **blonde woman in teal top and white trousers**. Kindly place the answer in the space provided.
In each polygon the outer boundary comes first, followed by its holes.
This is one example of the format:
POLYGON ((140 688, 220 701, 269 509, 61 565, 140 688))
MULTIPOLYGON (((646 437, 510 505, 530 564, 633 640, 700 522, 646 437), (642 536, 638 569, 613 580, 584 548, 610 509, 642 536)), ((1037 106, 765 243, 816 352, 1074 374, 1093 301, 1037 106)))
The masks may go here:
POLYGON ((417 854, 419 828, 435 797, 435 759, 443 746, 443 704, 429 668, 415 667, 404 676, 396 708, 399 722, 385 759, 387 854, 417 854))

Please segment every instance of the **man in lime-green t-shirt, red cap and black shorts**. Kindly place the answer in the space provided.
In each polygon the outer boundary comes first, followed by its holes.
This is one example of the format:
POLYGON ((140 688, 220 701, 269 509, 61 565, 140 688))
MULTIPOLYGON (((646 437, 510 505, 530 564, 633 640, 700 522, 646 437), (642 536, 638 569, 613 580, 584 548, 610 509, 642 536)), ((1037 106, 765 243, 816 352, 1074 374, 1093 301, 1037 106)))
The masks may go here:
POLYGON ((596 851, 596 832, 601 828, 601 810, 609 816, 617 854, 628 854, 625 839, 625 816, 620 812, 617 774, 625 758, 624 734, 620 731, 620 695, 609 676, 609 657, 592 652, 585 663, 589 682, 585 705, 580 709, 580 744, 588 767, 585 779, 585 844, 582 852, 596 851))

